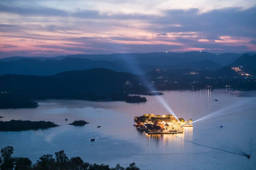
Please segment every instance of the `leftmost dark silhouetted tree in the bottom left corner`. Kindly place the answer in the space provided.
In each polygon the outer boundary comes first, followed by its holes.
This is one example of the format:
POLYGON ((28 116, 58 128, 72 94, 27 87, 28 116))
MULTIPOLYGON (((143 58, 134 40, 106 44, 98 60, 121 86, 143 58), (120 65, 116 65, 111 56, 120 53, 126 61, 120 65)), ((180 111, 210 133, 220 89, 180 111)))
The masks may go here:
POLYGON ((7 146, 1 149, 1 157, 2 157, 2 170, 13 170, 14 168, 14 158, 12 158, 13 147, 7 146))

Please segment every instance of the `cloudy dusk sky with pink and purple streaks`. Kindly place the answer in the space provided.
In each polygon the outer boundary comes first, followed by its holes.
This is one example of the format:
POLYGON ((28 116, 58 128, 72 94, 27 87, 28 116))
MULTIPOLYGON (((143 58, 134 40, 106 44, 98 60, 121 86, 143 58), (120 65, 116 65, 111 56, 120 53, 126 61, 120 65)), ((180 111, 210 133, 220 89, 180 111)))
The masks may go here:
POLYGON ((255 0, 1 0, 0 58, 256 52, 255 0))

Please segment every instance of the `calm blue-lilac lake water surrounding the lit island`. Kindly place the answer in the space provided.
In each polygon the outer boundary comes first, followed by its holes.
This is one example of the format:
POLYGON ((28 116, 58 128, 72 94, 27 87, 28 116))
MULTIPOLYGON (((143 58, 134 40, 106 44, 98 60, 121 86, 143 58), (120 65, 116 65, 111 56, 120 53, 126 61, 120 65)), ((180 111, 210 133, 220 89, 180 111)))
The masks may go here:
POLYGON ((134 116, 169 114, 155 96, 146 96, 148 101, 140 104, 44 100, 38 101, 40 106, 35 109, 2 109, 0 115, 5 117, 2 120, 45 120, 61 126, 37 131, 0 132, 0 148, 13 146, 14 156, 29 157, 33 162, 43 154, 54 154, 63 149, 69 158, 80 156, 86 162, 111 167, 118 163, 126 167, 135 162, 141 169, 255 168, 256 91, 162 92, 165 95, 161 97, 178 117, 199 119, 193 128, 186 128, 184 134, 176 135, 149 136, 138 132, 133 127, 134 116), (90 123, 83 127, 67 125, 74 120, 90 123), (226 128, 215 128, 220 125, 226 128), (91 138, 96 140, 91 142, 91 138), (200 145, 237 154, 252 153, 252 157, 247 159, 200 145))

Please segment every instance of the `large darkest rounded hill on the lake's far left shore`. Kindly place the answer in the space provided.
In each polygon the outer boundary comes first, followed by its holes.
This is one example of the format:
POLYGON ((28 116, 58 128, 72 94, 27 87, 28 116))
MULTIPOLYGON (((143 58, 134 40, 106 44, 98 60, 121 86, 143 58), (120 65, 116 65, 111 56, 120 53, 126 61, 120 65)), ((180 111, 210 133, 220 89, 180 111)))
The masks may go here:
POLYGON ((5 74, 0 77, 0 91, 26 99, 124 100, 126 81, 129 90, 139 90, 140 80, 138 75, 109 69, 66 71, 52 76, 5 74))

